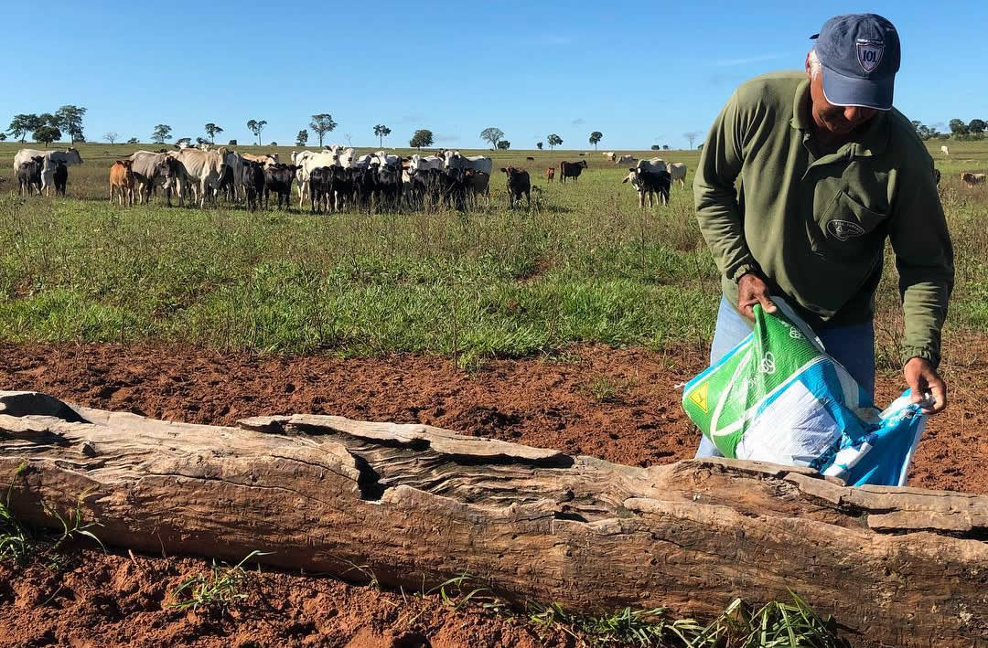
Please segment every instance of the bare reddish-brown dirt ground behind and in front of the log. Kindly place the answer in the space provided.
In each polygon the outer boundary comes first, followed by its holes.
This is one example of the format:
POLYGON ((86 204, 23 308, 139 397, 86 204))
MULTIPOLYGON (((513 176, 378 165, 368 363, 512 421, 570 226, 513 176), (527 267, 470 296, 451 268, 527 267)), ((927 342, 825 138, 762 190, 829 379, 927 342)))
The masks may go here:
MULTIPOLYGON (((427 423, 460 433, 592 454, 619 463, 667 463, 693 455, 698 438, 675 388, 702 355, 640 348, 573 347, 554 360, 493 361, 480 370, 449 360, 258 358, 183 346, 0 345, 0 388, 34 389, 67 401, 144 416, 234 424, 255 415, 313 413, 427 423)), ((950 405, 931 419, 910 484, 988 493, 988 441, 978 393, 980 363, 947 367, 950 405)), ((880 375, 877 401, 902 389, 880 375)), ((526 646, 570 645, 556 632, 436 601, 332 579, 267 574, 248 602, 224 617, 163 606, 193 559, 87 551, 59 577, 34 566, 0 566, 0 645, 526 646), (57 591, 58 586, 62 590, 57 591), (410 607, 411 606, 411 607, 410 607), (410 621, 422 608, 426 611, 410 621), (414 610, 414 611, 413 611, 414 610), (10 637, 10 639, 8 639, 10 637), (4 641, 14 641, 4 644, 4 641), (425 643, 425 641, 431 643, 425 643), (416 643, 418 642, 418 643, 416 643)))

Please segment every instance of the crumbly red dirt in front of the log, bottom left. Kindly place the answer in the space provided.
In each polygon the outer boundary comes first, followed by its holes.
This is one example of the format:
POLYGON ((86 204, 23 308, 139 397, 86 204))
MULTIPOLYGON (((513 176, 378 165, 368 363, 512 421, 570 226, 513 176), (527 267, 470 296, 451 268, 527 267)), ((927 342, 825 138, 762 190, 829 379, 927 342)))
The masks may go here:
POLYGON ((68 567, 0 563, 0 646, 574 646, 559 630, 536 628, 478 607, 454 610, 437 595, 377 592, 330 578, 249 568, 235 600, 179 609, 185 579, 208 574, 195 558, 79 550, 68 567), (180 595, 181 596, 181 595, 180 595))

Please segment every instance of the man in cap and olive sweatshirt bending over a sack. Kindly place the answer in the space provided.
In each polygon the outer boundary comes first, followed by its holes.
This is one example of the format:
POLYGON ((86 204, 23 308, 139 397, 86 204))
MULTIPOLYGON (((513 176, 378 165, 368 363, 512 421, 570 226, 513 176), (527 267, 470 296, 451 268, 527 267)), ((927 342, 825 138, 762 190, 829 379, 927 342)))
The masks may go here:
MULTIPOLYGON (((887 237, 906 383, 914 402, 932 394, 925 412, 942 412, 937 366, 953 249, 933 160, 892 108, 898 35, 880 16, 852 14, 812 38, 804 73, 740 86, 703 143, 697 218, 723 290, 710 362, 751 332, 755 304, 775 312, 779 295, 873 395, 874 292, 887 237)), ((716 453, 701 440, 698 456, 716 453)))

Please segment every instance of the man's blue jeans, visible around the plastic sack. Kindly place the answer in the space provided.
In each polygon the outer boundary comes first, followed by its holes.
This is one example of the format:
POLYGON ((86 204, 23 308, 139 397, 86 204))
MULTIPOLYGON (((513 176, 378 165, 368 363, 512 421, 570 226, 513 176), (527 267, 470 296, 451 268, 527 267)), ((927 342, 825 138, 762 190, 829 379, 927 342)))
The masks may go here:
MULTIPOLYGON (((715 364, 751 333, 752 322, 735 310, 726 297, 720 297, 717 325, 710 345, 710 364, 715 364)), ((874 398, 874 326, 871 322, 815 331, 834 360, 843 364, 865 392, 874 398)), ((706 437, 700 437, 697 458, 723 456, 706 437)))

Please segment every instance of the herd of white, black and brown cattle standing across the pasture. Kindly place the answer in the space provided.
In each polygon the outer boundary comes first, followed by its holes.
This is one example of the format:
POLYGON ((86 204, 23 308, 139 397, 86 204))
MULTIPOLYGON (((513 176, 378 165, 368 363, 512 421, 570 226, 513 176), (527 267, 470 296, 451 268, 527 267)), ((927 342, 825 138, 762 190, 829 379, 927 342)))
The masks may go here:
MULTIPOLYGON (((622 157, 625 161, 629 156, 622 157)), ((21 149, 14 158, 21 193, 33 191, 65 193, 67 166, 82 164, 75 148, 57 151, 21 149)), ((586 160, 560 162, 561 183, 576 181, 586 160)), ((516 167, 500 170, 505 174, 509 204, 523 197, 531 204, 532 182, 529 172, 516 167)), ((629 169, 630 182, 651 206, 653 196, 669 202, 669 190, 676 180, 685 187, 686 165, 667 164, 661 158, 640 160, 629 169)), ((200 206, 223 197, 245 202, 248 209, 268 207, 271 196, 276 205, 288 208, 291 188, 298 192, 298 208, 308 202, 312 212, 343 211, 350 207, 377 205, 400 210, 403 206, 422 207, 427 203, 445 203, 464 209, 481 198, 490 201, 489 181, 493 163, 484 156, 463 156, 446 150, 440 155, 397 155, 377 151, 359 155, 355 149, 327 146, 321 151, 291 153, 291 162, 283 163, 277 154, 251 155, 225 147, 181 147, 177 150, 137 151, 117 160, 110 169, 110 200, 120 204, 146 203, 161 189, 171 204, 189 197, 200 206)), ((555 169, 547 170, 551 182, 555 169)))

